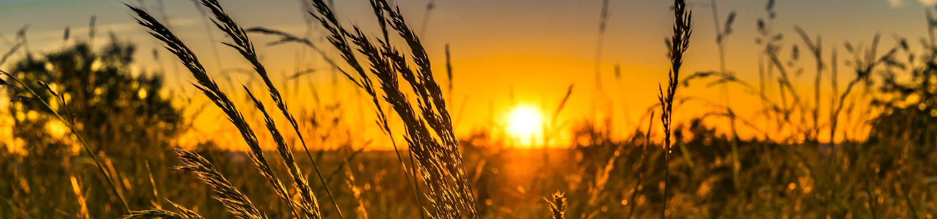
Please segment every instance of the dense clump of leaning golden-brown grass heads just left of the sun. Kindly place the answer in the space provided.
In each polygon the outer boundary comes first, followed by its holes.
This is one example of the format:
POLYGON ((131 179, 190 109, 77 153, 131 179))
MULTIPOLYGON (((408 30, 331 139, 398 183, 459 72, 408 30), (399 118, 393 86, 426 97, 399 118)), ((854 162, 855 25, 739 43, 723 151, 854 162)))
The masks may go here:
MULTIPOLYGON (((393 9, 383 0, 372 1, 379 20, 385 20, 397 35, 409 47, 409 57, 402 54, 390 45, 385 36, 384 40, 365 36, 357 27, 350 29, 342 27, 335 19, 330 7, 321 0, 313 0, 317 8, 313 16, 319 20, 331 34, 329 41, 342 53, 346 62, 358 71, 358 77, 347 77, 359 87, 362 87, 372 99, 378 95, 372 91, 371 77, 377 80, 383 99, 391 104, 392 109, 405 124, 405 133, 410 152, 423 175, 427 185, 427 198, 435 209, 437 218, 462 218, 463 214, 469 218, 477 218, 478 212, 474 207, 471 186, 463 167, 458 143, 452 131, 452 120, 446 110, 445 101, 439 84, 433 79, 430 71, 429 59, 418 36, 409 28, 399 10, 393 9), (350 41, 350 43, 349 43, 350 41), (350 44, 357 48, 369 63, 368 72, 364 71, 363 64, 355 58, 350 44), (414 66, 410 66, 412 62, 414 66), (416 94, 417 108, 414 109, 411 100, 401 90, 402 81, 406 80, 410 90, 416 94), (454 180, 450 183, 449 179, 454 180)), ((375 105, 379 105, 375 102, 375 105)), ((386 121, 385 118, 381 120, 386 121)), ((414 173, 415 174, 415 173, 414 173)))

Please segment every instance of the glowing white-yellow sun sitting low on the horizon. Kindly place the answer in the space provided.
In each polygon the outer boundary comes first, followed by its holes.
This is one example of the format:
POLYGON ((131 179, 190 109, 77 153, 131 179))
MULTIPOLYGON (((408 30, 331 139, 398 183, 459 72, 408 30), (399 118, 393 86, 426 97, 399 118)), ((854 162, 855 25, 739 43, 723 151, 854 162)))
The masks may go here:
POLYGON ((543 114, 538 110, 518 107, 508 116, 508 132, 521 144, 531 144, 533 139, 541 135, 542 129, 543 114))

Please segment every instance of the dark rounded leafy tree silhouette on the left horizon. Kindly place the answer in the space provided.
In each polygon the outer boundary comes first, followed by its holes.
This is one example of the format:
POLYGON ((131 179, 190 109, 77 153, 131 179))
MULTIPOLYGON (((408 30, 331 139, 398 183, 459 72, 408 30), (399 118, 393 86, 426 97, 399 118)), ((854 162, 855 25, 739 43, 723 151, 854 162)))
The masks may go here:
POLYGON ((19 99, 9 106, 16 123, 13 135, 22 139, 23 149, 61 155, 71 138, 67 131, 64 137, 51 135, 57 124, 52 111, 38 100, 22 97, 49 102, 97 151, 113 147, 108 153, 116 155, 168 148, 182 129, 182 113, 170 95, 160 93, 164 85, 160 76, 132 73, 134 51, 133 44, 112 36, 99 51, 79 42, 61 51, 27 54, 13 64, 10 74, 39 93, 7 93, 10 99, 19 99))

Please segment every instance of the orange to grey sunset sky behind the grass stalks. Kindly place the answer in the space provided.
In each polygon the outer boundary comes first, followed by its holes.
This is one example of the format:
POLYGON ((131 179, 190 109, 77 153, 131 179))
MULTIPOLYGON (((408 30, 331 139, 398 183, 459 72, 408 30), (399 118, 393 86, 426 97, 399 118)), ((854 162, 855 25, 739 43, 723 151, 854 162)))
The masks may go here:
MULTIPOLYGON (((144 6, 156 14, 165 14, 171 28, 201 55, 211 74, 220 77, 220 69, 244 67, 245 62, 235 51, 218 46, 224 40, 215 29, 206 31, 206 20, 190 0, 123 0, 128 4, 144 6), (162 6, 162 10, 160 10, 162 6), (160 13, 163 11, 164 13, 160 13), (214 44, 214 45, 213 45, 214 44), (214 47, 214 48, 213 48, 214 47), (220 52, 220 59, 212 54, 220 52), (219 62, 219 60, 224 60, 219 62)), ((300 0, 221 0, 229 14, 243 26, 265 26, 303 35, 306 30, 300 0)), ((934 0, 778 0, 777 19, 773 29, 783 34, 783 45, 799 44, 802 40, 794 32, 800 26, 811 36, 820 35, 824 42, 824 56, 833 48, 845 54, 843 42, 868 44, 876 33, 883 37, 883 48, 894 45, 892 36, 912 39, 926 36, 925 9, 934 0)), ((445 75, 445 45, 450 45, 454 67, 454 93, 449 98, 450 109, 456 116, 455 129, 459 135, 468 135, 494 122, 496 126, 510 126, 509 117, 514 109, 538 109, 549 117, 572 84, 573 95, 560 120, 573 123, 602 114, 611 116, 611 123, 621 135, 630 134, 645 110, 657 101, 658 83, 666 81, 669 67, 665 36, 671 31, 671 1, 663 0, 610 0, 609 19, 603 36, 599 61, 602 92, 596 84, 596 60, 599 48, 599 20, 601 0, 438 0, 426 16, 428 0, 398 0, 403 15, 422 34, 422 40, 433 62, 437 79, 445 75), (425 19, 425 26, 424 24, 425 19), (620 66, 620 77, 615 66, 620 66), (595 96, 602 95, 604 101, 595 96), (596 102, 600 102, 596 104, 596 102), (603 104, 604 103, 604 104, 603 104), (464 106, 464 107, 463 107, 464 106), (599 106, 599 107, 596 107, 599 106), (600 110, 595 110, 600 109, 600 110), (596 112, 599 111, 599 112, 596 112)), ((719 69, 719 53, 715 43, 713 11, 709 0, 690 1, 693 11, 693 35, 686 54, 684 74, 719 69)), ((725 40, 727 69, 740 79, 757 84, 760 46, 755 43, 758 33, 755 23, 766 18, 766 0, 718 0, 719 19, 724 21, 730 11, 737 14, 733 34, 725 40)), ((340 20, 360 24, 377 36, 371 8, 365 0, 335 1, 340 20)), ((140 46, 137 71, 167 72, 166 78, 178 91, 194 94, 185 88, 188 77, 182 68, 169 58, 153 61, 153 49, 159 49, 156 40, 146 36, 136 25, 121 1, 114 0, 3 0, 0 1, 0 34, 15 35, 28 25, 27 38, 31 51, 54 51, 64 44, 63 30, 70 28, 75 38, 87 38, 91 16, 97 18, 98 33, 112 31, 122 40, 140 46)), ((157 15, 159 16, 159 15, 157 15)), ((722 23, 722 22, 719 22, 722 23)), ((317 36, 317 35, 313 35, 317 36)), ((297 61, 304 51, 298 46, 266 47, 271 37, 255 36, 254 43, 262 61, 271 72, 294 72, 302 65, 320 69, 308 76, 317 84, 323 101, 359 99, 345 105, 343 115, 354 121, 353 128, 378 133, 369 117, 366 101, 350 89, 347 81, 330 72, 319 59, 308 56, 297 61), (337 81, 337 83, 335 83, 337 81), (337 85, 334 85, 337 84, 337 85), (335 88, 332 88, 335 86, 335 88), (358 105, 364 107, 358 107, 358 105)), ((916 40, 911 40, 915 42, 916 40)), ((104 40, 97 40, 103 43, 104 40)), ((8 45, 0 44, 0 50, 8 45)), ((161 50, 161 49, 160 49, 161 50)), ((161 51, 163 57, 168 53, 161 51)), ((847 55, 841 55, 847 56, 847 55)), ((802 58, 799 66, 812 66, 809 58, 802 58)), ((8 67, 8 66, 0 66, 8 67)), ((794 82, 802 92, 809 90, 813 72, 794 82)), ((848 69, 845 66, 841 67, 848 69)), ((824 73, 828 74, 828 72, 824 73)), ((250 76, 234 75, 244 82, 250 76)), ((852 75, 841 71, 840 77, 852 75)), ((281 78, 282 80, 282 78, 281 78)), ((446 81, 440 81, 446 84, 446 81)), ((311 90, 305 81, 283 83, 291 104, 311 106, 311 90)), ((693 96, 719 102, 719 87, 706 87, 703 83, 680 88, 679 95, 693 96)), ((828 88, 822 90, 828 94, 828 88)), ((739 114, 751 114, 758 100, 740 89, 730 87, 730 106, 739 114)), ((692 118, 710 111, 701 104, 687 104, 677 111, 677 118, 692 118)), ((206 121, 217 117, 202 118, 206 121)), ((214 130, 206 127, 208 130, 214 130)), ((379 133, 378 133, 379 134, 379 133)), ((376 137, 377 138, 377 137, 376 137)))

